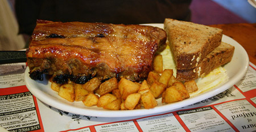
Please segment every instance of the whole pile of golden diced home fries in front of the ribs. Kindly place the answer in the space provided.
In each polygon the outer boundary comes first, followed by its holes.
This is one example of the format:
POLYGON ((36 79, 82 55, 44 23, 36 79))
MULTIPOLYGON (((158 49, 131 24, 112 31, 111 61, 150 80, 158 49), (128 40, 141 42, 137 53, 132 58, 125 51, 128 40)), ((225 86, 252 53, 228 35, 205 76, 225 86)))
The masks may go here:
POLYGON ((156 99, 160 97, 162 103, 174 103, 188 99, 190 92, 198 90, 195 80, 183 83, 175 78, 172 69, 163 70, 162 56, 154 58, 154 71, 142 83, 125 78, 105 82, 92 78, 85 84, 52 82, 51 88, 68 101, 82 101, 86 107, 96 105, 109 110, 151 109, 158 105, 156 99))

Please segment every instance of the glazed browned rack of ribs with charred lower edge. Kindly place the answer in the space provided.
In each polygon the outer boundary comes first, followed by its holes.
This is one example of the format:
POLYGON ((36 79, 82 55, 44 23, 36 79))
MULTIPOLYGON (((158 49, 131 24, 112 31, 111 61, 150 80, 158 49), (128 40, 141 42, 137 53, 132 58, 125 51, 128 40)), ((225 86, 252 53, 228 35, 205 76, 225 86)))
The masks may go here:
POLYGON ((166 32, 157 27, 38 20, 27 65, 32 79, 48 74, 57 83, 85 83, 93 76, 135 81, 146 78, 154 54, 164 45, 166 32))

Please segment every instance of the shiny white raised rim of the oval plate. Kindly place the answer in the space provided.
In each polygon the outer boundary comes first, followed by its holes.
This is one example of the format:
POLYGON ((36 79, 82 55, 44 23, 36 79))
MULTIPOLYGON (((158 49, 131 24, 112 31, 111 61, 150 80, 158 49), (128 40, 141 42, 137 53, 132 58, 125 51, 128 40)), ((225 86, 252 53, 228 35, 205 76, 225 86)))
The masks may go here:
MULTIPOLYGON (((143 25, 152 25, 154 27, 163 28, 162 23, 160 23, 160 24, 152 23, 152 24, 143 24, 143 25)), ((222 84, 222 86, 214 88, 213 90, 209 90, 209 91, 202 93, 200 95, 197 95, 195 97, 191 97, 189 99, 179 101, 176 103, 157 106, 152 109, 106 110, 103 108, 101 108, 101 109, 92 109, 92 108, 86 108, 86 107, 80 108, 80 107, 70 105, 70 102, 63 103, 62 101, 58 101, 59 99, 54 100, 54 99, 52 99, 51 95, 36 88, 36 86, 37 86, 36 83, 38 83, 39 81, 32 80, 29 77, 29 74, 28 74, 29 68, 28 67, 24 74, 24 80, 25 80, 28 90, 32 93, 32 95, 34 95, 40 101, 42 101, 43 103, 46 103, 47 105, 50 105, 51 107, 55 107, 60 110, 65 110, 70 113, 81 114, 81 115, 86 115, 86 116, 94 116, 94 117, 133 117, 133 116, 146 116, 146 115, 150 115, 150 114, 173 111, 175 109, 179 109, 179 108, 185 107, 190 104, 195 104, 201 100, 207 99, 208 97, 217 95, 218 93, 221 93, 221 92, 227 90, 228 88, 234 86, 234 84, 236 84, 243 77, 243 75, 245 75, 245 73, 249 67, 249 57, 247 55, 246 50, 236 40, 233 40, 231 37, 223 35, 222 40, 223 40, 223 38, 227 39, 227 41, 233 41, 234 44, 240 49, 241 53, 245 57, 244 58, 245 63, 242 65, 243 69, 241 69, 241 71, 239 71, 235 74, 236 75, 235 78, 234 78, 234 76, 232 76, 233 78, 232 79, 229 78, 228 82, 222 84)), ((233 45, 233 42, 231 45, 233 45)), ((235 48, 235 50, 236 49, 237 48, 235 48)), ((233 58, 232 58, 232 60, 233 60, 233 58)))

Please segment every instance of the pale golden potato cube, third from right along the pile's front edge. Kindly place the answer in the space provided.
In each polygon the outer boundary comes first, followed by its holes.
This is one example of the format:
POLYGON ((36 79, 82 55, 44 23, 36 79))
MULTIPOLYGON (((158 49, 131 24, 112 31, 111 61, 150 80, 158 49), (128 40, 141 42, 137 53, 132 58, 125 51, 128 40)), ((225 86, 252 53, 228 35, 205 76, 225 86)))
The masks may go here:
POLYGON ((134 109, 138 104, 139 99, 141 99, 140 93, 131 93, 130 95, 127 96, 125 100, 125 104, 124 104, 125 108, 134 109))

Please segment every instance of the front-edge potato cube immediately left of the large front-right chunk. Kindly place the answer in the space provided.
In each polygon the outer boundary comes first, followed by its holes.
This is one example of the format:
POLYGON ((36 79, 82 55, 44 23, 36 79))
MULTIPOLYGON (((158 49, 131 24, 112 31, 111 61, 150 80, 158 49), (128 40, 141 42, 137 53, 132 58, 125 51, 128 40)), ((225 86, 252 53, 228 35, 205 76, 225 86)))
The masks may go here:
POLYGON ((150 91, 143 93, 143 95, 141 95, 141 100, 145 109, 151 109, 158 105, 158 102, 150 91))

